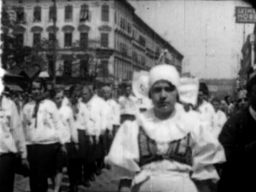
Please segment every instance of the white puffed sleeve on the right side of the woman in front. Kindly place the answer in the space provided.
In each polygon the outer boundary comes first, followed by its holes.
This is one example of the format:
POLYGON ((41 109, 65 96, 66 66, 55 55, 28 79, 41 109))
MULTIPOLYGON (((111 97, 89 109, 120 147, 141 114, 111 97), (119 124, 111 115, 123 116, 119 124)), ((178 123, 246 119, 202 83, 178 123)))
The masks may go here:
POLYGON ((193 166, 192 178, 195 180, 212 180, 217 182, 218 172, 214 164, 220 164, 225 161, 224 148, 218 142, 218 139, 202 126, 200 121, 195 121, 192 131, 194 146, 192 149, 193 166))

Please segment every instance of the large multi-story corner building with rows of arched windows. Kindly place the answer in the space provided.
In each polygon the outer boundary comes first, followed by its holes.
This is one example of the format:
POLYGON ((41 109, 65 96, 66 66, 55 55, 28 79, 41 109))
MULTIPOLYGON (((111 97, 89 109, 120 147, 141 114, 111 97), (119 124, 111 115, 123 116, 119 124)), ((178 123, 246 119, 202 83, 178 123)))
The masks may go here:
POLYGON ((165 50, 165 61, 181 72, 183 55, 139 18, 127 1, 54 1, 5 3, 19 21, 14 33, 20 44, 36 46, 42 39, 57 39, 55 65, 53 51, 44 50, 49 73, 55 72, 57 79, 88 80, 95 74, 102 81, 131 80, 133 71, 153 67, 165 50))

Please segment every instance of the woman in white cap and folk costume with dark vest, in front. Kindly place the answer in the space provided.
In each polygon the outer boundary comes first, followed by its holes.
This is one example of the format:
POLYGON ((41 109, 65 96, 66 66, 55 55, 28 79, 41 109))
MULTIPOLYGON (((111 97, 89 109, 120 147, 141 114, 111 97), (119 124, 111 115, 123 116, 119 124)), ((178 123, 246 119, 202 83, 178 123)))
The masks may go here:
POLYGON ((134 173, 131 182, 120 182, 119 190, 207 191, 205 185, 218 181, 213 165, 224 162, 224 149, 198 115, 177 108, 175 67, 152 68, 148 88, 154 107, 121 125, 106 157, 108 164, 134 173))

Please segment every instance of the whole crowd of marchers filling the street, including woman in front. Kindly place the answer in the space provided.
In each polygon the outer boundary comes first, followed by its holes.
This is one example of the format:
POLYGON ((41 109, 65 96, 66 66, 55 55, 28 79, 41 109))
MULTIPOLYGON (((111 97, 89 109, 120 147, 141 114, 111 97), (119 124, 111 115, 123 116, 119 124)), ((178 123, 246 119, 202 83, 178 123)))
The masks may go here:
POLYGON ((49 178, 62 191, 65 167, 70 192, 90 188, 102 169, 126 170, 123 192, 256 191, 256 76, 236 102, 199 84, 194 106, 179 101, 175 67, 153 67, 148 79, 148 98, 131 84, 114 98, 108 85, 48 90, 40 78, 28 93, 3 90, 0 191, 14 190, 15 173, 32 192, 47 192, 49 178))

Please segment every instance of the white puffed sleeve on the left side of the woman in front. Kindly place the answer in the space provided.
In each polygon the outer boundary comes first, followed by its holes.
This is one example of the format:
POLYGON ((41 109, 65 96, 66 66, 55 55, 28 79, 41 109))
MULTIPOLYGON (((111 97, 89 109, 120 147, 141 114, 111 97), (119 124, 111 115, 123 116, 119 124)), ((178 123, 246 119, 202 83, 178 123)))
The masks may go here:
POLYGON ((106 163, 130 172, 139 172, 141 169, 137 165, 139 160, 137 135, 137 122, 125 121, 113 139, 108 156, 105 158, 106 163))

